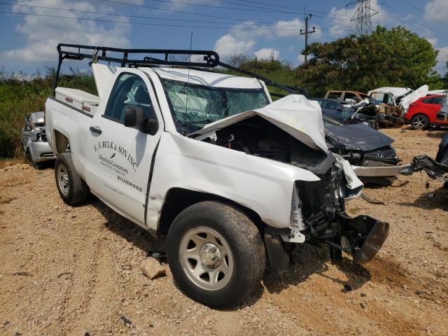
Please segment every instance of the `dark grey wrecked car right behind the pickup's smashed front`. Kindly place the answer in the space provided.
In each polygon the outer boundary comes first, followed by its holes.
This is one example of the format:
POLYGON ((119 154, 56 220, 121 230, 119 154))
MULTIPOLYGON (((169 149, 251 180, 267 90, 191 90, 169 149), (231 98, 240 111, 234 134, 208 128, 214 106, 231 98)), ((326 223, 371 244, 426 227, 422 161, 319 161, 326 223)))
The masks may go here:
POLYGON ((392 185, 403 167, 391 137, 362 123, 345 125, 328 116, 323 116, 323 125, 330 151, 349 161, 361 181, 392 185))

